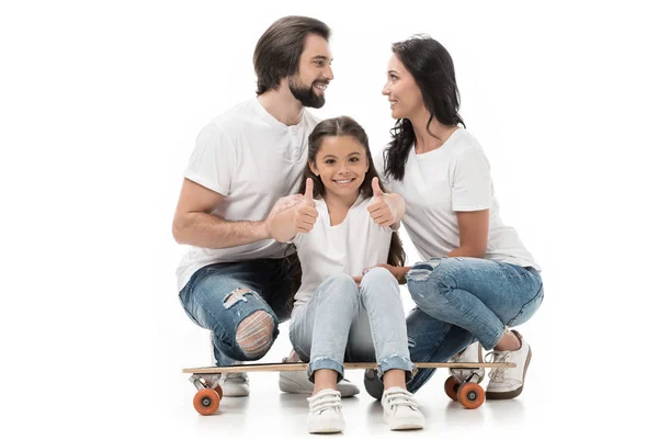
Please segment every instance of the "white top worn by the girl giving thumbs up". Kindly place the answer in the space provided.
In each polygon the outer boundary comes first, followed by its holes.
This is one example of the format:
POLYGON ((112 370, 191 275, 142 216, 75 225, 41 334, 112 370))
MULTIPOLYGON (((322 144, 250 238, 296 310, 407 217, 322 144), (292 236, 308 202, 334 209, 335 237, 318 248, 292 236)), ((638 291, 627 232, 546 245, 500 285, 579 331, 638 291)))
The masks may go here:
POLYGON ((371 200, 360 195, 343 222, 334 226, 325 200, 315 200, 318 217, 313 229, 293 238, 302 264, 302 286, 295 294, 293 315, 327 278, 362 275, 364 269, 386 263, 393 230, 371 218, 366 210, 371 200))

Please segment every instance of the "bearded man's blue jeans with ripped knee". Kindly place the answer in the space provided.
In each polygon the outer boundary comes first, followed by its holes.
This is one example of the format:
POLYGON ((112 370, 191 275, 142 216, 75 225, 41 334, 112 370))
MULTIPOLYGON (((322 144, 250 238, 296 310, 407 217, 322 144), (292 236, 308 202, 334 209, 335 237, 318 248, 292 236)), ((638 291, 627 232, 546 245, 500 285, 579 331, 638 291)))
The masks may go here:
POLYGON ((213 333, 215 362, 262 358, 291 316, 299 288, 297 255, 222 262, 198 269, 179 293, 188 316, 213 333))

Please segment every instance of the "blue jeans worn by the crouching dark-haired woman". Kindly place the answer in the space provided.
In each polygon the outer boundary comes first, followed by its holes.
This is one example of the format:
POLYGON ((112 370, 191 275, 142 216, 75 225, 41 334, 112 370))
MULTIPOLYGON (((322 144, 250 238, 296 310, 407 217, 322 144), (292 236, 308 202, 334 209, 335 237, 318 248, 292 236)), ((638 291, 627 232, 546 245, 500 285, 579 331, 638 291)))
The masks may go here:
MULTIPOLYGON (((525 323, 544 299, 540 273, 479 258, 432 258, 407 273, 417 307, 407 317, 415 362, 445 362, 474 341, 489 350, 506 327, 525 323)), ((409 384, 418 391, 435 369, 420 369, 409 384)))

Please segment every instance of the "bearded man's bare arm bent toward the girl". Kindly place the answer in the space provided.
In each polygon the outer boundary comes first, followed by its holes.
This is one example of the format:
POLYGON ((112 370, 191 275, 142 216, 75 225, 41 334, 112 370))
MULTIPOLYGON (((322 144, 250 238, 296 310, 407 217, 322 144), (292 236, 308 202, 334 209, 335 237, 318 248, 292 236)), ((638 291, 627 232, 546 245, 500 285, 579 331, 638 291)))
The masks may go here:
POLYGON ((211 214, 225 196, 184 179, 173 215, 173 238, 179 244, 204 248, 229 248, 269 239, 273 215, 292 206, 298 198, 281 199, 264 221, 225 221, 211 214))

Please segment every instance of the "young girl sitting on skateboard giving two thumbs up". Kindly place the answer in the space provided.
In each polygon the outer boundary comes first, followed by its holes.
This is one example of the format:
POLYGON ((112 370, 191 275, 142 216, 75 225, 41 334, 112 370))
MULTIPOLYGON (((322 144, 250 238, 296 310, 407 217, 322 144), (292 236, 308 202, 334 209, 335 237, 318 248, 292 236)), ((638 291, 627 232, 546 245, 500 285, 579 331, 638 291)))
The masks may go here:
POLYGON ((384 420, 390 429, 424 427, 406 383, 409 360, 398 281, 379 263, 402 266, 396 209, 372 166, 367 136, 350 117, 329 119, 308 140, 304 201, 279 214, 272 236, 297 247, 302 286, 295 295, 291 340, 315 383, 308 431, 344 430, 336 383, 347 361, 376 361, 384 382, 384 420), (396 224, 394 224, 396 223, 396 224), (362 277, 363 274, 363 277, 362 277))

